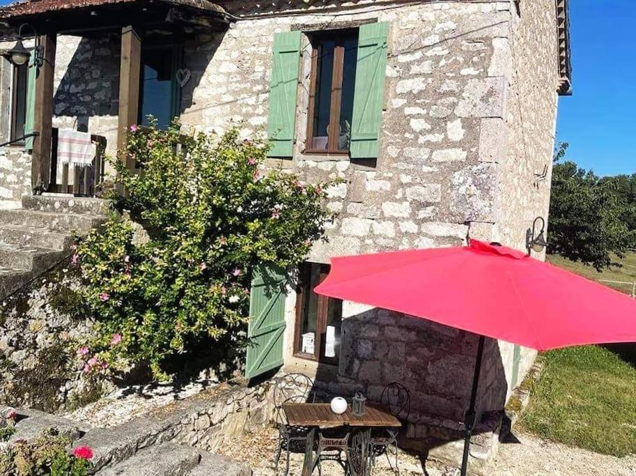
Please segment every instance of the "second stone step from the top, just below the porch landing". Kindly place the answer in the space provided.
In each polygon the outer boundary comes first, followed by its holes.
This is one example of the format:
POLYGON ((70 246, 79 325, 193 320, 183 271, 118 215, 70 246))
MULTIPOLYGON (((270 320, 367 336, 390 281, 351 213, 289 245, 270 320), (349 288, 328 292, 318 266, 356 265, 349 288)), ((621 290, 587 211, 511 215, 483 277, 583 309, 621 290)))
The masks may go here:
POLYGON ((51 231, 80 235, 98 227, 105 218, 84 213, 51 213, 37 210, 0 210, 0 224, 14 224, 31 228, 47 228, 51 231))

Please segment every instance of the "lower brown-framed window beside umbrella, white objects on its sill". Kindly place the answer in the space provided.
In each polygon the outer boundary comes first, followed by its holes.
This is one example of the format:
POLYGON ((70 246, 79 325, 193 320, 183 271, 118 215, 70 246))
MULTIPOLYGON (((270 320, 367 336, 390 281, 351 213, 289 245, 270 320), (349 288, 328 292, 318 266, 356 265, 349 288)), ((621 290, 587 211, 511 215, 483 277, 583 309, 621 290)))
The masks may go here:
POLYGON ((329 265, 303 263, 300 267, 294 353, 301 358, 338 364, 342 301, 313 292, 328 273, 329 265))

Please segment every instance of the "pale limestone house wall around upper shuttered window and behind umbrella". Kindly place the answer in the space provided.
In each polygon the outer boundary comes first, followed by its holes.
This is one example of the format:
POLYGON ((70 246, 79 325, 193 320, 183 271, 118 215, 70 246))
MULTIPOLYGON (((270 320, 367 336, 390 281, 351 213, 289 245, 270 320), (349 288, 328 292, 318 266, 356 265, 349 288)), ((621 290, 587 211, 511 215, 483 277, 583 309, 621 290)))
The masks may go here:
MULTIPOLYGON (((546 214, 549 195, 549 176, 538 185, 534 176, 543 164, 549 166, 554 142, 556 27, 549 3, 533 3, 520 14, 511 1, 396 2, 391 8, 365 1, 341 10, 332 2, 310 1, 288 11, 277 4, 269 16, 249 2, 228 2, 235 13, 255 17, 235 22, 209 42, 190 45, 185 63, 194 81, 182 118, 208 132, 223 132, 234 121, 244 137, 263 135, 274 33, 390 22, 377 161, 302 154, 309 87, 304 38, 295 155, 269 166, 293 170, 307 181, 344 179, 329 190, 329 209, 338 213, 329 241, 316 244, 309 260, 458 245, 467 236, 523 249, 525 229, 536 215, 546 214), (534 49, 541 53, 533 55, 534 49), (528 59, 522 63, 515 54, 528 59), (532 118, 540 134, 521 125, 519 101, 526 108, 524 124, 526 116, 532 118)), ((337 370, 341 389, 371 381, 371 392, 377 393, 389 381, 417 382, 421 385, 412 390, 422 401, 415 403, 415 413, 442 422, 460 420, 470 390, 466 372, 472 375, 474 339, 373 309, 349 312, 344 328, 337 370), (421 349, 405 360, 407 349, 416 346, 421 349)), ((509 395, 513 346, 492 342, 487 355, 481 409, 497 410, 509 395)), ((525 353, 523 367, 532 358, 525 353)))

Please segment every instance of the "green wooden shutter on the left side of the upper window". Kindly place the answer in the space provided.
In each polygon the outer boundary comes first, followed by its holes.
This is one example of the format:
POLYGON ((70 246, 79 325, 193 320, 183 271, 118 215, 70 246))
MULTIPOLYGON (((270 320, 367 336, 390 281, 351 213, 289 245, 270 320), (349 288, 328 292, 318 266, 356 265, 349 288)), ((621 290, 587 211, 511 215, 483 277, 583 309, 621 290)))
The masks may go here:
POLYGON ((296 123, 296 95, 300 71, 300 31, 274 35, 274 62, 270 83, 267 137, 268 157, 292 157, 296 123))

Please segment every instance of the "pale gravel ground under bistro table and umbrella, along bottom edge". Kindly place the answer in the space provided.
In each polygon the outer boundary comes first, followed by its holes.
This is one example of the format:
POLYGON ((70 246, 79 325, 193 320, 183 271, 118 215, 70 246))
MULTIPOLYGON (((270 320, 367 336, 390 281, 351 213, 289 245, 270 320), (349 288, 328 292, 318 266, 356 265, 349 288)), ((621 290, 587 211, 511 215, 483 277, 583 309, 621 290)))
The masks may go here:
MULTIPOLYGON (((636 455, 628 458, 605 456, 578 448, 550 443, 527 433, 515 435, 519 443, 505 443, 499 447, 488 476, 636 476, 636 455)), ((274 476, 272 458, 277 445, 277 430, 268 427, 257 433, 246 433, 240 440, 224 445, 225 456, 247 462, 254 476, 274 476)), ((292 454, 290 475, 300 475, 302 454, 292 454)), ((281 458, 279 475, 283 473, 281 458)), ((317 474, 317 473, 316 473, 317 474)), ((341 476, 343 470, 336 463, 323 465, 323 476, 341 476)), ((400 475, 456 476, 458 470, 433 462, 423 469, 419 459, 401 454, 400 475)), ((380 459, 373 476, 393 476, 386 459, 380 459)))

